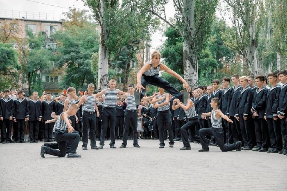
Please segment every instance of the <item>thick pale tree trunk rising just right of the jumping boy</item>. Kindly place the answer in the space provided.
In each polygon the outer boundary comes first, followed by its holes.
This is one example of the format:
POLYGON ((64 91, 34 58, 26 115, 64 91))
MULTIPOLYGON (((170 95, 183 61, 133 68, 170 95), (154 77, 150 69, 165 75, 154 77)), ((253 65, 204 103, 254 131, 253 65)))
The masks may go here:
POLYGON ((191 30, 183 43, 184 79, 192 89, 198 86, 198 52, 193 40, 195 38, 194 7, 194 0, 184 0, 184 13, 191 30))

